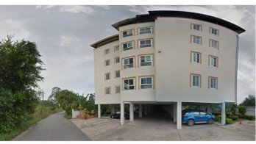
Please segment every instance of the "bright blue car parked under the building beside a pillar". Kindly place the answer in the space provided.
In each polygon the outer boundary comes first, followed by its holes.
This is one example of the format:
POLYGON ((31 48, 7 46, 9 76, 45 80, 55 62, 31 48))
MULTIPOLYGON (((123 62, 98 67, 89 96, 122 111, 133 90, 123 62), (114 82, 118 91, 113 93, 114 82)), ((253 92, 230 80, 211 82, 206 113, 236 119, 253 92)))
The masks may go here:
POLYGON ((202 110, 184 109, 182 110, 182 123, 193 126, 195 123, 213 124, 215 115, 208 114, 202 110))

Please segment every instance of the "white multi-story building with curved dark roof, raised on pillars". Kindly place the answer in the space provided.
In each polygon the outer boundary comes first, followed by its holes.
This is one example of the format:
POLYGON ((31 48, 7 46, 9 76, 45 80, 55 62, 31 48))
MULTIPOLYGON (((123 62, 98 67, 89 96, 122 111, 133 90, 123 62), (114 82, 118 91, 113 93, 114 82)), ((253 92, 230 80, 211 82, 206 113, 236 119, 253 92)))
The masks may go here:
MULTIPOLYGON (((134 105, 139 118, 161 104, 181 129, 182 104, 236 102, 239 26, 210 15, 149 11, 112 25, 93 43, 96 104, 134 105)), ((222 109, 225 115, 225 109, 222 109)), ((222 117, 224 123, 224 116, 222 117)))

